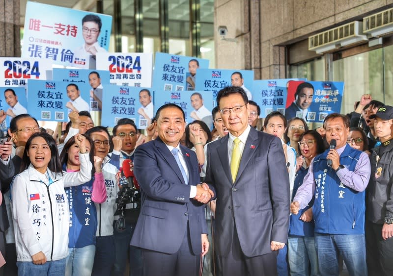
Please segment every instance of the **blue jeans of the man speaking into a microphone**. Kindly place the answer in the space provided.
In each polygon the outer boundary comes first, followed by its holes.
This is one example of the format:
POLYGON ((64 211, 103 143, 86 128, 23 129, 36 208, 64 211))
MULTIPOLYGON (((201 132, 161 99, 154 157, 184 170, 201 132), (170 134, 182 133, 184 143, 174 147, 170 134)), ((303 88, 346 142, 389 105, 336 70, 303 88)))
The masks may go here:
POLYGON ((315 233, 319 273, 338 275, 338 256, 342 255, 351 276, 367 276, 365 235, 329 235, 315 233))

